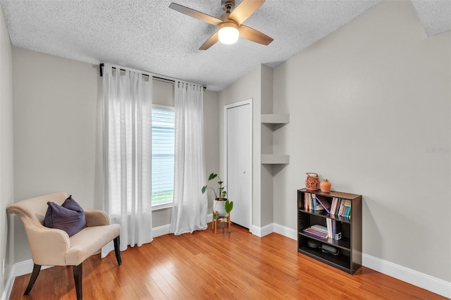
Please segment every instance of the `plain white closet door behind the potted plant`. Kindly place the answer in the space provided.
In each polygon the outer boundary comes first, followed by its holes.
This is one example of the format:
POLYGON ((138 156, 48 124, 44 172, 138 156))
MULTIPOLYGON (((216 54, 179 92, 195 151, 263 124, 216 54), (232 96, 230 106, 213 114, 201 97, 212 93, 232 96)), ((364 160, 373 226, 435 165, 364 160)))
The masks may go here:
POLYGON ((251 227, 252 106, 227 108, 227 192, 233 201, 233 223, 251 227))

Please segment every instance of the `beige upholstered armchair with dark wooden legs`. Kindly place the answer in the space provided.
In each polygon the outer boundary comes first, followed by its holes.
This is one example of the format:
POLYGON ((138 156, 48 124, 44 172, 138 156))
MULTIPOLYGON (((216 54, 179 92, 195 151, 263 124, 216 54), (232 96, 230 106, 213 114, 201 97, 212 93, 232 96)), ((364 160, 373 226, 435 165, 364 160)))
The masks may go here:
POLYGON ((6 208, 8 213, 20 215, 35 264, 25 295, 30 293, 42 265, 71 265, 77 299, 82 299, 82 262, 111 240, 114 242, 116 260, 121 265, 121 227, 109 224, 108 215, 104 211, 85 209, 87 227, 72 237, 63 230, 44 226, 47 201, 61 205, 67 197, 65 192, 59 192, 19 201, 6 208))

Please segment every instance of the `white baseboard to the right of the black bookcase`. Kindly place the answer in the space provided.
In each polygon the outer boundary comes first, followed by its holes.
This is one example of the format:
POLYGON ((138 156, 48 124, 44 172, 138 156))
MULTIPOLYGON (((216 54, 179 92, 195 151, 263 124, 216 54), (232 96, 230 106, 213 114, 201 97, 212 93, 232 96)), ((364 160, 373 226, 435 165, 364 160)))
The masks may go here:
POLYGON ((362 265, 366 268, 376 270, 385 275, 395 277, 396 279, 427 289, 430 292, 445 296, 451 299, 451 282, 446 282, 439 278, 420 273, 402 265, 384 261, 381 258, 371 256, 369 254, 362 254, 362 265))

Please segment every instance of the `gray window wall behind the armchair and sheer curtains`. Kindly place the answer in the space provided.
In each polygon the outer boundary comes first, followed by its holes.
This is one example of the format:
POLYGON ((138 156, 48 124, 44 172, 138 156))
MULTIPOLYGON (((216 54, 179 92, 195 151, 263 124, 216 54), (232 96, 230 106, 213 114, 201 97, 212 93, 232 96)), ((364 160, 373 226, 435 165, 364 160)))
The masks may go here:
MULTIPOLYGON (((13 48, 15 199, 66 191, 102 208, 101 77, 96 65, 13 48)), ((154 80, 154 103, 173 105, 173 84, 154 80)), ((218 166, 218 93, 204 93, 206 169, 218 166), (211 111, 210 111, 211 110, 211 111)), ((171 209, 152 213, 168 225, 171 209)), ((30 259, 16 218, 16 259, 30 259)))

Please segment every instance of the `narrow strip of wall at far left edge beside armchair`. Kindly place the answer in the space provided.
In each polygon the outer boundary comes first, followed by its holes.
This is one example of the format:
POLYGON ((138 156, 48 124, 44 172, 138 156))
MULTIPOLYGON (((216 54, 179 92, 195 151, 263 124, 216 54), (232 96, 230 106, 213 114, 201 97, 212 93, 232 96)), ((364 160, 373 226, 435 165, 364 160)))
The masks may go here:
POLYGON ((14 202, 13 182, 13 58, 11 42, 0 7, 0 296, 14 263, 13 228, 6 206, 14 202), (1 261, 6 272, 1 275, 1 261))

